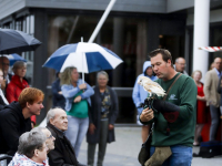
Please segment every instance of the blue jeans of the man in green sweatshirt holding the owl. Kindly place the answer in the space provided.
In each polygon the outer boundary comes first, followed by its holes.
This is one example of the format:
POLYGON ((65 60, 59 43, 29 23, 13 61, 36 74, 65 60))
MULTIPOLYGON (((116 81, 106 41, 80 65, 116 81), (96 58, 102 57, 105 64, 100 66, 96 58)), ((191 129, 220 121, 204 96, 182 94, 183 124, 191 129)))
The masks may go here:
MULTIPOLYGON (((151 146, 150 154, 155 151, 154 146, 151 146)), ((162 164, 162 166, 191 166, 192 160, 192 147, 176 145, 171 146, 172 155, 162 164)))

